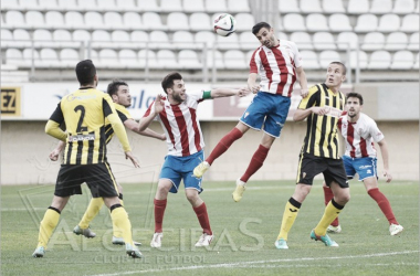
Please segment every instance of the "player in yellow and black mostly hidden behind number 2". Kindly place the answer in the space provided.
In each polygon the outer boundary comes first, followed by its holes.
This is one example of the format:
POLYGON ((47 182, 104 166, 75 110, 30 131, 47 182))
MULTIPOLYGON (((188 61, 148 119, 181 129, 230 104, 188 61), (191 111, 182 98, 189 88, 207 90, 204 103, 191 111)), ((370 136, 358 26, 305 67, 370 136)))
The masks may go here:
MULTIPOLYGON (((107 93, 112 97, 115 109, 118 114, 119 119, 123 121, 124 126, 130 129, 134 132, 137 132, 143 136, 153 137, 159 140, 166 140, 165 134, 157 134, 151 129, 147 128, 144 131, 139 131, 139 124, 135 121, 127 110, 127 107, 132 106, 132 96, 129 94, 128 84, 120 79, 114 79, 108 84, 107 93)), ((114 130, 109 124, 108 119, 105 119, 105 136, 106 144, 111 141, 114 136, 114 130)), ((55 161, 59 158, 60 152, 64 149, 65 144, 60 141, 57 147, 50 153, 50 159, 55 161)), ((123 204, 123 187, 117 183, 118 188, 118 198, 120 204, 123 204)), ((73 232, 77 235, 84 235, 85 237, 95 237, 96 234, 88 227, 91 221, 98 214, 101 208, 104 205, 104 200, 102 198, 92 198, 81 222, 74 227, 73 232)), ((114 235, 112 243, 124 245, 125 242, 120 235, 120 232, 117 231, 115 225, 114 235)), ((134 242, 135 245, 140 245, 140 243, 134 242)))

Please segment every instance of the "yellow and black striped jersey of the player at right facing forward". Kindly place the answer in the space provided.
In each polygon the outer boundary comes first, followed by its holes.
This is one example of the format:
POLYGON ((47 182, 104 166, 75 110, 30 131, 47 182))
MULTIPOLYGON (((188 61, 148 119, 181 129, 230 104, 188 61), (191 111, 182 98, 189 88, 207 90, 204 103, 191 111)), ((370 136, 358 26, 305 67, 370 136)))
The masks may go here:
POLYGON ((309 88, 307 97, 301 100, 298 109, 307 109, 313 106, 329 106, 330 109, 324 116, 312 113, 307 117, 306 136, 302 152, 339 159, 337 123, 344 110, 344 94, 342 92, 332 92, 326 84, 318 84, 309 88))

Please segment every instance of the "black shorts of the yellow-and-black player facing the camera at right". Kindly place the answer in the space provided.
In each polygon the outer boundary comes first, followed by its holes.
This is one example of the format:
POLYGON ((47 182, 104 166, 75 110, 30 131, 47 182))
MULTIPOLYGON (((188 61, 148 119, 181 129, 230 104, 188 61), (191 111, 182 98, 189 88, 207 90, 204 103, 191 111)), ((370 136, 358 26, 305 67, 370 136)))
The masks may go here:
POLYGON ((329 187, 334 181, 342 188, 348 188, 346 170, 342 159, 317 157, 309 153, 301 153, 297 168, 297 183, 312 185, 316 174, 324 174, 329 187))

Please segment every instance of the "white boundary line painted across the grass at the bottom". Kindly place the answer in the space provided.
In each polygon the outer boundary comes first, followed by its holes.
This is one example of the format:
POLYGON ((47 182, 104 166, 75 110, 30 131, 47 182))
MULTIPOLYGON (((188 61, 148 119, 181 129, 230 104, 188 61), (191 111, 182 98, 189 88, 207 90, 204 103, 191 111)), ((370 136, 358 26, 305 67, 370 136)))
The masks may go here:
MULTIPOLYGON (((133 272, 118 272, 113 274, 95 274, 92 276, 118 276, 118 275, 132 275, 132 274, 144 274, 144 273, 160 273, 160 272, 174 272, 174 270, 193 270, 193 269, 207 269, 207 268, 223 268, 223 267, 262 267, 260 264, 264 265, 267 263, 284 263, 284 262, 312 262, 312 261, 326 261, 326 259, 342 259, 342 258, 369 258, 369 257, 382 257, 402 254, 419 253, 420 251, 402 251, 402 252, 391 252, 391 253, 378 253, 369 255, 348 255, 348 256, 335 256, 335 257, 304 257, 304 258, 277 258, 267 261, 253 261, 253 262, 239 262, 239 263, 225 263, 225 264, 214 264, 214 265, 193 265, 193 266, 181 266, 172 267, 167 269, 146 269, 146 270, 133 270, 133 272), (255 266, 256 265, 256 266, 255 266)), ((382 264, 378 264, 382 265, 382 264)), ((269 265, 273 266, 273 265, 269 265)), ((276 265, 274 265, 276 267, 276 265)), ((301 266, 301 265, 300 265, 301 266)), ((263 266, 265 267, 265 266, 263 266)), ((294 266, 293 266, 294 267, 294 266)))

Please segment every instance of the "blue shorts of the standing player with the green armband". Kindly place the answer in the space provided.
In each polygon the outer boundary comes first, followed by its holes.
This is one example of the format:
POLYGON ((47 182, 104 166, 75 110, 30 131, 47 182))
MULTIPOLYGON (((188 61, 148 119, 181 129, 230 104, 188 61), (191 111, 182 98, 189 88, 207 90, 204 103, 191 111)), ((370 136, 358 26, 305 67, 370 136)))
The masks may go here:
POLYGON ((191 156, 166 156, 159 179, 169 179, 172 188, 169 192, 177 193, 181 179, 186 189, 196 189, 201 192, 201 179, 192 174, 193 169, 204 160, 204 152, 200 150, 191 156))

